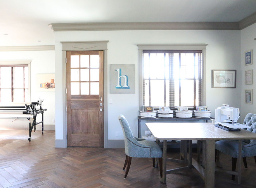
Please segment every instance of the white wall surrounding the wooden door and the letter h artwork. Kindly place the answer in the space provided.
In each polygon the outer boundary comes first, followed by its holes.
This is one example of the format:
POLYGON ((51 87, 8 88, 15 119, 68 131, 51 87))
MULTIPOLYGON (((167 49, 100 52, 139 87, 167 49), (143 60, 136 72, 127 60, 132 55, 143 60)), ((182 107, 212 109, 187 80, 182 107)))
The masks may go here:
MULTIPOLYGON (((138 47, 137 44, 209 44, 206 48, 206 105, 213 112, 217 106, 230 104, 240 108, 241 70, 240 70, 240 31, 71 31, 55 32, 55 82, 56 87, 56 139, 64 139, 66 133, 65 117, 63 116, 65 101, 62 72, 62 45, 60 41, 104 41, 109 43, 107 63, 135 64, 135 94, 110 94, 107 85, 107 99, 113 103, 105 109, 108 112, 108 139, 123 139, 118 115, 123 114, 128 119, 134 135, 137 135, 137 116, 139 115, 138 88, 138 47), (57 68, 59 70, 57 70, 57 68), (212 69, 237 70, 236 89, 211 88, 212 69), (57 97, 58 96, 58 97, 57 97), (58 113, 58 114, 57 114, 58 113), (119 137, 115 137, 115 132, 119 137)), ((109 66, 108 66, 109 68, 109 66)), ((109 71, 107 75, 109 83, 109 71)))

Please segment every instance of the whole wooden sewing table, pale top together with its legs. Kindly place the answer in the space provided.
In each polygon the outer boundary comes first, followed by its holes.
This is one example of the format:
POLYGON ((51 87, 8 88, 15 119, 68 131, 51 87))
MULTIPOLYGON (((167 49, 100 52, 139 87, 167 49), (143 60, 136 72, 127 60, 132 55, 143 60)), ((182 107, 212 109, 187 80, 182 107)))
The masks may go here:
MULTIPOLYGON (((214 188, 215 173, 215 140, 239 140, 238 169, 241 169, 242 157, 242 140, 256 139, 256 134, 241 130, 237 132, 228 132, 214 126, 212 123, 146 123, 152 135, 157 140, 163 140, 163 177, 162 183, 166 183, 166 174, 174 173, 182 169, 197 169, 201 177, 204 179, 204 187, 214 188), (181 156, 183 160, 168 159, 167 140, 181 140, 181 156), (203 142, 203 162, 201 166, 199 162, 192 158, 192 140, 201 140, 203 142), (189 153, 187 154, 187 142, 189 142, 189 153), (188 155, 188 156, 187 156, 188 155), (166 161, 185 163, 187 166, 176 169, 167 170, 166 161)), ((240 184, 241 174, 238 172, 230 172, 238 175, 238 183, 240 184)))

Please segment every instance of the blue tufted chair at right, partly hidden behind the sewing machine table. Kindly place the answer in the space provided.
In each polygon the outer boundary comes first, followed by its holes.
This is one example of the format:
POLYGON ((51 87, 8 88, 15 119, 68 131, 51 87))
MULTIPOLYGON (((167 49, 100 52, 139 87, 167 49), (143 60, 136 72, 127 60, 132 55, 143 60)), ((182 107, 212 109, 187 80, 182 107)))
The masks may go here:
MULTIPOLYGON (((256 114, 247 114, 244 119, 244 125, 250 126, 245 130, 256 133, 256 114)), ((237 140, 219 140, 215 144, 215 149, 228 154, 232 157, 232 171, 235 171, 237 157, 238 157, 238 141, 237 140)), ((242 141, 242 157, 244 166, 247 168, 246 157, 253 157, 256 164, 256 140, 243 140, 242 141)), ((232 175, 234 180, 235 175, 232 175)))

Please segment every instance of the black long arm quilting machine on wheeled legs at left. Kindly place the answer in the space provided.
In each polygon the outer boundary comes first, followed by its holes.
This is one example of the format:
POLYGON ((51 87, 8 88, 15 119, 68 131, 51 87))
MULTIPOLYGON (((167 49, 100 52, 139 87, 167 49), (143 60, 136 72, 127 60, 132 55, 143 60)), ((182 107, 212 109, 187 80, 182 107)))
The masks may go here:
POLYGON ((27 119, 29 120, 29 142, 31 141, 31 132, 36 132, 36 125, 42 123, 42 134, 43 134, 43 113, 47 109, 42 108, 43 100, 40 99, 37 102, 31 102, 29 104, 25 104, 24 106, 0 106, 0 114, 25 114, 28 115, 27 119), (40 109, 36 109, 36 106, 40 106, 40 109), (36 122, 36 116, 38 114, 42 114, 42 121, 36 122), (33 122, 31 125, 30 118, 33 116, 33 122))

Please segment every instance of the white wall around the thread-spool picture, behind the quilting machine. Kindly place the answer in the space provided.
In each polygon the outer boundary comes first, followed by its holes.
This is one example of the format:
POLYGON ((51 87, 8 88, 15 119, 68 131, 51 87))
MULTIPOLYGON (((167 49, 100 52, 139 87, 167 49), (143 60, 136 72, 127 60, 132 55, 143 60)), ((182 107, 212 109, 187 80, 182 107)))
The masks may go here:
MULTIPOLYGON (((54 125, 52 120, 55 119, 55 93, 54 91, 36 91, 36 75, 44 73, 55 73, 54 67, 54 50, 49 51, 0 51, 0 61, 22 61, 31 60, 31 101, 44 99, 44 125, 54 125)), ((36 118, 37 122, 41 115, 36 118)), ((37 125, 38 127, 40 125, 37 125)), ((50 126, 52 127, 52 126, 50 126)), ((46 129, 45 129, 46 130, 46 129)))

